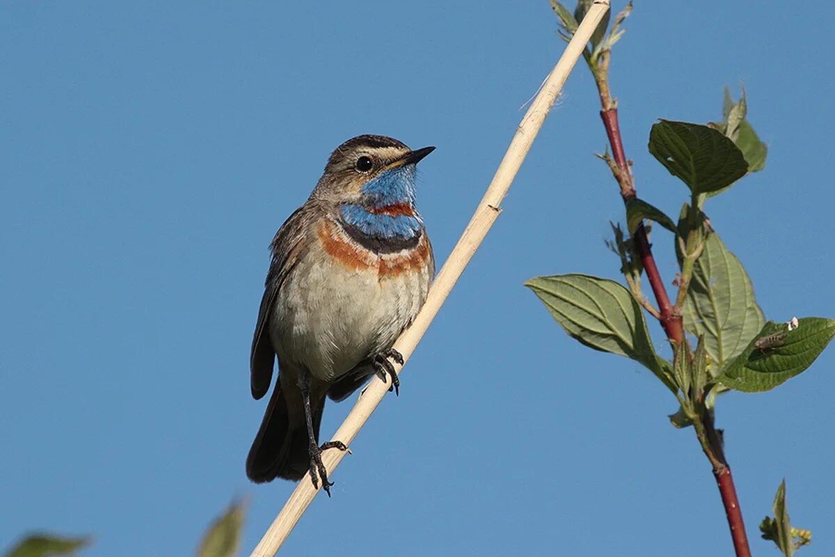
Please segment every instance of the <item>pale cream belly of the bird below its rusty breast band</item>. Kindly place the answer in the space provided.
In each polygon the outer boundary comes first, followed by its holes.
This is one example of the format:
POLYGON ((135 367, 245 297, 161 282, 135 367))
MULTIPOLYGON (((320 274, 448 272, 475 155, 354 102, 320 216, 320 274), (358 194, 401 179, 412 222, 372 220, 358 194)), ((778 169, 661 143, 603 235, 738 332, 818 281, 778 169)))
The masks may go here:
POLYGON ((305 257, 276 296, 271 340, 279 362, 333 381, 392 346, 423 305, 428 271, 382 280, 330 257, 305 257))

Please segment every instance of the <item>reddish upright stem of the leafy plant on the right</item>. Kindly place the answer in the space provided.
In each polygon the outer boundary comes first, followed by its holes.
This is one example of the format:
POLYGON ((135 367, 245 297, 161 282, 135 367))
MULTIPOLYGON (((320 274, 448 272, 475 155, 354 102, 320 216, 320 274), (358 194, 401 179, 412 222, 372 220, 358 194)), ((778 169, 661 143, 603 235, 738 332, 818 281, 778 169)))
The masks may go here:
MULTIPOLYGON (((600 86, 600 84, 600 78, 598 78, 598 85, 600 86)), ((620 196, 623 198, 624 203, 629 203, 637 195, 635 192, 635 182, 632 178, 630 164, 626 160, 623 141, 620 139, 620 125, 618 124, 616 102, 612 100, 609 93, 609 86, 605 83, 605 80, 603 84, 605 90, 600 90, 600 101, 604 109, 600 111, 600 118, 603 119, 606 135, 609 137, 609 143, 612 147, 612 156, 617 166, 617 170, 613 171, 620 185, 620 196)), ((646 237, 646 230, 643 224, 639 225, 637 230, 635 230, 632 239, 635 241, 635 249, 638 251, 640 261, 644 265, 646 278, 650 281, 652 292, 655 294, 655 301, 658 302, 661 327, 664 327, 664 332, 671 341, 676 342, 676 344, 685 342, 684 323, 681 320, 681 311, 671 304, 670 296, 667 296, 664 281, 661 280, 658 266, 655 265, 655 258, 652 256, 652 246, 650 246, 650 241, 646 237)), ((704 423, 707 438, 706 446, 703 445, 703 447, 707 458, 713 465, 713 476, 716 478, 716 485, 719 487, 722 504, 725 506, 725 514, 728 519, 728 526, 731 528, 731 539, 733 540, 736 557, 751 557, 751 549, 748 547, 748 537, 745 532, 745 523, 742 521, 742 512, 739 507, 739 499, 736 497, 736 487, 733 483, 731 468, 728 467, 725 459, 721 435, 716 432, 710 414, 706 413, 702 422, 704 423)))

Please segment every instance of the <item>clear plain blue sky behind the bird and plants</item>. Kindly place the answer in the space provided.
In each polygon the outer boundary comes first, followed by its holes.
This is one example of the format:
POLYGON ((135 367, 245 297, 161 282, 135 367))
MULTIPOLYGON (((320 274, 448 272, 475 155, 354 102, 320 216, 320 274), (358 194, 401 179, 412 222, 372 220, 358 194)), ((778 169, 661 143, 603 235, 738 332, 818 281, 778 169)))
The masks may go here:
MULTIPOLYGON (((623 2, 616 2, 620 10, 623 2)), ((642 197, 685 190, 646 150, 663 117, 721 117, 743 80, 767 168, 707 210, 768 318, 835 316, 831 6, 640 2, 611 83, 642 197)), ((294 485, 244 459, 267 245, 342 140, 438 150, 419 206, 439 261, 564 43, 546 0, 0 8, 0 548, 94 534, 89 557, 185 555, 234 498, 251 550, 294 485)), ((289 555, 731 554, 710 466, 635 362, 570 340, 531 276, 618 278, 623 207, 578 66, 499 218, 402 376, 286 543, 289 555)), ((655 235, 660 271, 672 244, 655 235)), ((669 355, 659 327, 656 345, 669 355)), ((835 554, 832 364, 723 397, 746 525, 783 477, 835 554)), ((352 407, 330 404, 325 436, 352 407)))

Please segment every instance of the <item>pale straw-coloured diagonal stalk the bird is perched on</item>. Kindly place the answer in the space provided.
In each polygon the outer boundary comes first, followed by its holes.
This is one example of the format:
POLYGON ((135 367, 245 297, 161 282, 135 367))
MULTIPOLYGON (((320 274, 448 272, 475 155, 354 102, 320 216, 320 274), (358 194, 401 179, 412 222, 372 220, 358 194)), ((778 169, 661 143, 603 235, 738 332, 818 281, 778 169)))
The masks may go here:
MULTIPOLYGON (((556 101, 559 91, 562 90, 565 80, 571 70, 574 69, 574 64, 577 63, 578 58, 583 53, 585 45, 589 43, 591 34, 594 33, 597 24, 608 9, 609 0, 595 0, 594 5, 583 18, 583 22, 580 23, 577 32, 574 33, 574 38, 565 48, 559 62, 551 70, 548 78, 545 79, 544 84, 539 89, 539 94, 531 103, 528 112, 525 113, 519 128, 516 129, 514 139, 511 140, 502 162, 498 165, 498 170, 496 170, 487 192, 475 210, 473 218, 470 219, 467 228, 464 229, 463 235, 458 240, 458 244, 456 244, 453 252, 435 278, 423 309, 417 314, 412 327, 403 332, 397 342, 394 343, 394 348, 402 354, 404 359, 407 360, 412 355, 417 342, 420 342, 423 333, 426 332, 429 324, 438 314, 443 301, 447 299, 464 268, 472 259, 490 227, 493 226, 493 222, 498 218, 501 211, 499 205, 501 205, 504 195, 507 194, 510 185, 513 183, 516 173, 519 172, 519 167, 522 165, 525 155, 528 154, 531 144, 534 143, 534 138, 539 133, 539 129, 542 128, 545 117, 554 106, 554 101, 556 101)), ((399 373, 401 367, 395 367, 399 373)), ((358 398, 351 413, 345 418, 333 438, 350 445, 386 392, 386 383, 377 378, 372 379, 372 382, 358 398)), ((337 468, 344 456, 345 453, 342 451, 326 451, 322 454, 322 461, 325 463, 328 475, 333 472, 334 468, 337 468)), ((251 557, 272 557, 275 555, 287 535, 296 526, 301 515, 311 504, 313 498, 316 497, 317 492, 318 489, 313 487, 309 474, 306 474, 296 486, 296 490, 293 491, 284 508, 281 509, 281 513, 267 529, 261 543, 256 546, 251 557)))

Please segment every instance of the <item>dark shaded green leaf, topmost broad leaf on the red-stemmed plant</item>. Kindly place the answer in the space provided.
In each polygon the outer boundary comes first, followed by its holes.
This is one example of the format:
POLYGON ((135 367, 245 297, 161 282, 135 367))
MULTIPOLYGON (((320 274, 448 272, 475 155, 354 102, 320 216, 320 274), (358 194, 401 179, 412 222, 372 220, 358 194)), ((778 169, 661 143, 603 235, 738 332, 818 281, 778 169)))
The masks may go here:
POLYGON ((748 170, 731 139, 701 124, 662 119, 650 131, 650 153, 694 194, 721 190, 748 170))

